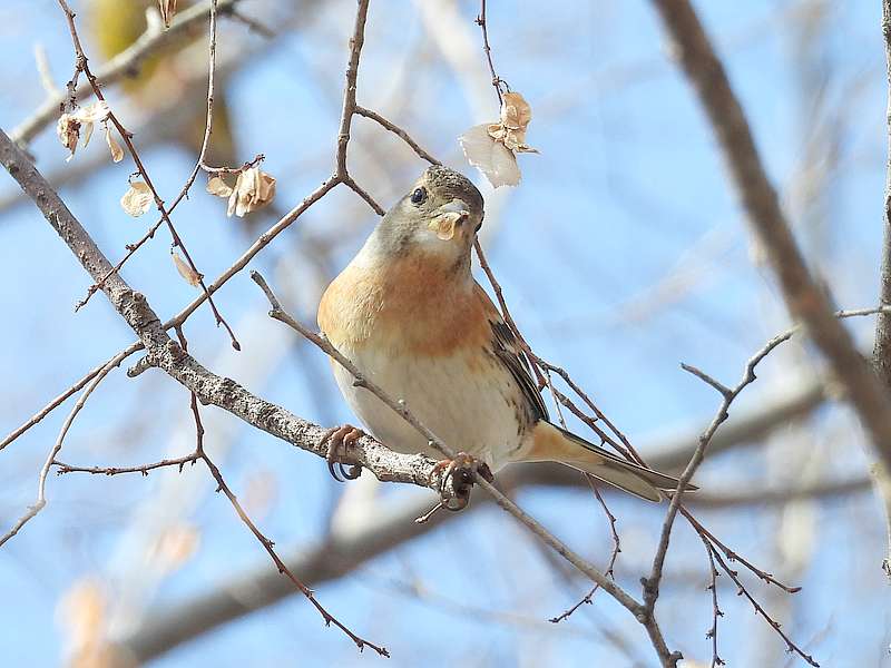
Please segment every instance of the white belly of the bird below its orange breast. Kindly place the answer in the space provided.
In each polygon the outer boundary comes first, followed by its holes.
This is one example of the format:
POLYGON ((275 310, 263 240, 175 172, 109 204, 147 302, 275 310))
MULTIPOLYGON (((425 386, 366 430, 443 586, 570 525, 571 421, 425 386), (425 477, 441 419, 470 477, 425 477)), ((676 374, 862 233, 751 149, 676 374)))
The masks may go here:
MULTIPOLYGON (((408 409, 453 452, 484 461, 492 471, 503 466, 521 446, 517 387, 510 372, 486 360, 486 371, 469 372, 456 357, 407 360, 360 347, 343 352, 395 400, 408 409)), ((474 353, 479 355, 480 353, 474 353)), ((334 376, 346 402, 368 431, 388 448, 403 453, 443 455, 427 444, 413 426, 368 390, 353 385, 353 376, 333 362, 334 376)))

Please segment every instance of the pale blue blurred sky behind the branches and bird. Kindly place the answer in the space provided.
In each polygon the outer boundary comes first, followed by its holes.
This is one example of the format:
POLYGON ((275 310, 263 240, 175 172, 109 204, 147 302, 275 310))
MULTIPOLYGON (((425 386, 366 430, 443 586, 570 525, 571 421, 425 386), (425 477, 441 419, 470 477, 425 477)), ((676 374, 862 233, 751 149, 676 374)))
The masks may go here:
MULTIPOLYGON (((76 11, 87 10, 86 4, 72 2, 76 11)), ((275 206, 286 212, 332 169, 354 3, 306 1, 296 11, 280 4, 288 3, 243 3, 246 13, 278 28, 275 39, 225 22, 218 48, 221 59, 236 63, 224 88, 239 157, 265 154, 264 170, 278 179, 275 206)), ((533 350, 568 369, 645 456, 654 454, 674 435, 702 430, 718 406, 716 393, 679 363, 735 383, 745 361, 789 326, 781 296, 748 234, 709 128, 667 57, 652 7, 638 0, 593 1, 542 12, 535 2, 489 4, 498 72, 531 104, 527 140, 540 150, 519 158, 518 188, 491 193, 463 161, 456 140, 468 127, 498 116, 473 24, 476 3, 372 2, 359 102, 399 122, 433 155, 480 183, 489 212, 488 258, 533 350)), ((874 304, 885 161, 880 3, 695 4, 812 266, 840 307, 874 304)), ((82 11, 78 20, 91 55, 89 18, 82 11)), ((33 58, 38 42, 62 86, 72 56, 57 4, 4 0, 0 127, 6 131, 43 100, 33 58)), ((101 62, 98 52, 91 62, 101 62)), ((192 86, 198 100, 203 86, 200 80, 192 86)), ((140 101, 109 90, 112 108, 136 129, 140 155, 169 200, 195 156, 160 139, 173 115, 153 118, 150 112, 153 104, 169 102, 165 96, 178 99, 165 89, 140 101)), ((182 105, 188 99, 183 95, 182 105)), ((355 118, 353 127, 351 173, 389 207, 425 164, 366 119, 355 118)), ((150 215, 134 219, 121 210, 118 200, 131 166, 110 164, 99 130, 67 164, 52 128, 31 150, 38 166, 57 178, 80 169, 80 179, 61 188, 62 197, 112 261, 153 223, 150 215)), ((273 220, 262 214, 247 223, 226 218, 225 203, 206 195, 203 184, 199 177, 174 220, 198 268, 213 278, 273 220)), ((133 340, 101 295, 74 313, 89 279, 33 207, 10 204, 14 194, 12 180, 0 176, 3 433, 133 340)), ((312 323, 325 282, 349 262, 375 218, 352 193, 339 189, 249 268, 264 272, 287 306, 312 323)), ((159 233, 124 272, 161 317, 195 296, 168 249, 169 239, 159 233)), ((231 351, 225 333, 202 307, 186 326, 198 360, 309 420, 352 419, 324 356, 266 317, 265 298, 247 272, 229 281, 215 301, 243 351, 231 351)), ((872 318, 848 324, 869 346, 872 318)), ((770 405, 820 367, 814 351, 796 338, 763 363, 760 380, 732 413, 770 405)), ((186 454, 194 440, 187 399, 159 372, 129 380, 124 369, 116 371, 79 415, 60 459, 127 465, 186 454)), ((0 452, 0 533, 32 503, 37 473, 70 405, 0 452)), ((355 490, 347 494, 354 498, 342 500, 344 487, 329 478, 317 458, 213 407, 203 414, 209 451, 283 554, 321 540, 332 514, 361 519, 363 512, 401 508, 424 494, 392 485, 375 492, 352 483, 355 490)), ((707 460, 696 482, 718 495, 858 479, 866 466, 855 420, 843 406, 828 404, 761 443, 707 460)), ((104 601, 97 626, 118 638, 154 611, 243 573, 274 568, 225 499, 213 493, 200 465, 148 478, 53 475, 48 495, 46 510, 0 549, 3 665, 62 662, 77 636, 72 618, 84 623, 88 617, 87 599, 104 601)), ((574 549, 605 563, 609 530, 589 491, 541 487, 522 490, 518 500, 574 549)), ((482 505, 480 494, 476 502, 482 505)), ((608 502, 623 540, 617 578, 637 596, 664 509, 618 494, 609 494, 608 502)), ((746 577, 753 593, 821 665, 891 666, 891 605, 879 568, 882 521, 869 493, 697 515, 741 553, 804 588, 786 597, 746 577)), ((669 646, 707 665, 711 646, 704 636, 712 603, 705 584, 702 544, 678 522, 658 613, 669 646)), ((561 576, 509 515, 484 507, 317 592, 353 630, 386 646, 394 666, 458 660, 471 666, 655 665, 643 629, 601 593, 570 620, 547 622, 587 589, 584 580, 561 576), (625 649, 607 635, 623 638, 625 649)), ((719 595, 725 612, 721 656, 731 665, 803 665, 785 655, 732 586, 723 582, 719 595)), ((325 629, 294 596, 151 665, 378 661, 383 659, 359 655, 340 632, 325 629)))

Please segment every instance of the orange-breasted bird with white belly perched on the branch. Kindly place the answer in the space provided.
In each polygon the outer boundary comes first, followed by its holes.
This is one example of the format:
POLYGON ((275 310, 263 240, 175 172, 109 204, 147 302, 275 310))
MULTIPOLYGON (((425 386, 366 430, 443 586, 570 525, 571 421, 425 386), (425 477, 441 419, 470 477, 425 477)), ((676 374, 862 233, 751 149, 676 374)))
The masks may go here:
MULTIPOLYGON (((365 377, 403 400, 443 443, 460 450, 458 456, 487 473, 516 462, 559 462, 662 501, 677 479, 550 421, 518 337, 473 278, 471 248, 482 219, 482 195, 466 176, 428 168, 327 286, 320 330, 365 377)), ((333 360, 332 367, 341 394, 374 439, 396 452, 441 458, 346 369, 333 360)), ((363 433, 351 424, 326 433, 335 478, 334 453, 363 433)))

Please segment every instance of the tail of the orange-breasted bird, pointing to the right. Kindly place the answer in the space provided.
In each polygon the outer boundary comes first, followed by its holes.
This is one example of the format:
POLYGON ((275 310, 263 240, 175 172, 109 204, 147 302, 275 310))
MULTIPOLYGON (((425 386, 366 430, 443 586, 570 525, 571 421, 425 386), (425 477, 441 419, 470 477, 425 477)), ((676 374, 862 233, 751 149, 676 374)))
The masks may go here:
MULTIPOLYGON (((550 461, 572 466, 647 501, 662 501, 663 492, 677 489, 677 479, 631 463, 589 443, 581 436, 540 421, 532 431, 532 448, 520 461, 550 461)), ((687 484, 685 491, 695 491, 687 484)))

